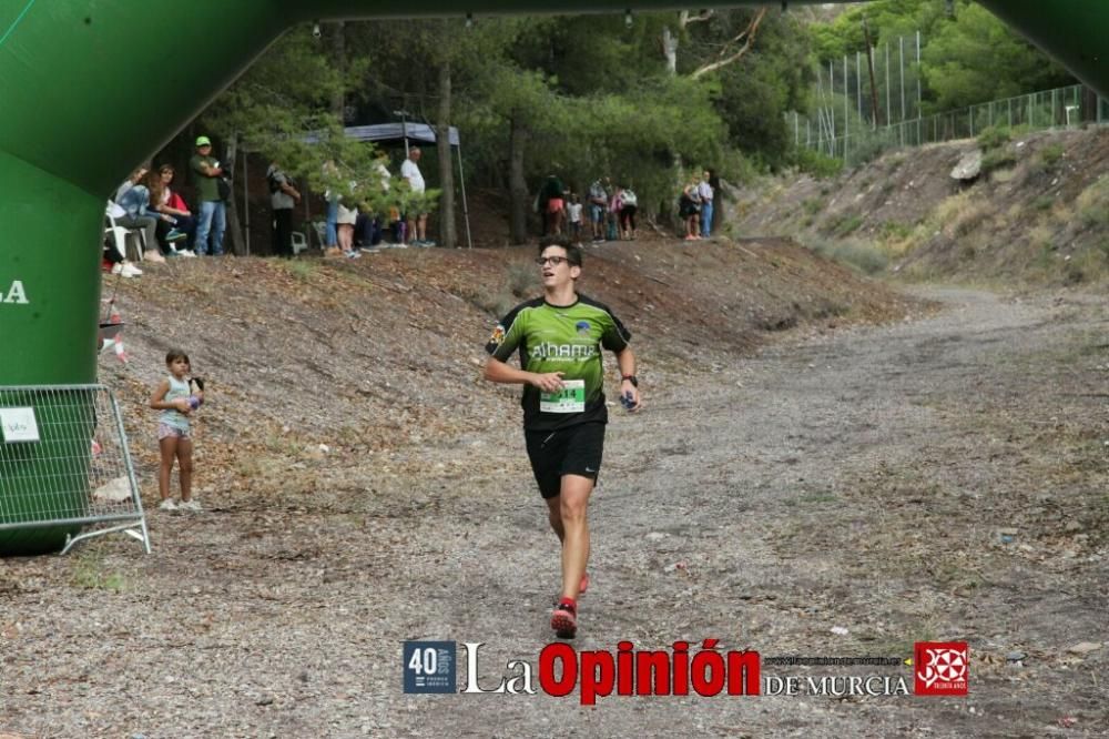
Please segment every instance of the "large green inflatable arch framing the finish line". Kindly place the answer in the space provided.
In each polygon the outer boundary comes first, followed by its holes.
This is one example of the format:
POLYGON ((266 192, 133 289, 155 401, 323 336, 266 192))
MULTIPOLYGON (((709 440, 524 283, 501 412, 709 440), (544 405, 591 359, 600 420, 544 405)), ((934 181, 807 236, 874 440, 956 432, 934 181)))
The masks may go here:
MULTIPOLYGON (((1103 55, 1109 2, 983 3, 1109 97, 1103 55)), ((135 163, 164 145, 291 24, 466 12, 621 12, 674 3, 189 0, 155 4, 0 0, 0 387, 95 382, 96 245, 105 198, 135 163), (160 69, 156 81, 143 73, 152 68, 160 69)), ((696 7, 735 4, 763 3, 708 1, 696 7)), ((0 524, 10 523, 3 516, 18 508, 12 502, 20 490, 12 489, 12 477, 35 478, 38 485, 50 476, 43 459, 51 445, 61 448, 81 441, 44 438, 38 448, 0 443, 0 524)), ((38 520, 33 510, 16 515, 19 520, 38 520)), ((48 528, 16 536, 0 530, 0 555, 55 550, 67 533, 48 528)))

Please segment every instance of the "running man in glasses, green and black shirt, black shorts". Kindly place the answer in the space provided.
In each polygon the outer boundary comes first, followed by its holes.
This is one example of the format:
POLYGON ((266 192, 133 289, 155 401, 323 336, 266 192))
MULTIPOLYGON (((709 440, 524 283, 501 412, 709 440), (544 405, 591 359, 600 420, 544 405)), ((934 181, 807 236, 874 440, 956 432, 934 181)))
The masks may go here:
POLYGON ((604 367, 601 348, 615 353, 621 398, 640 407, 631 334, 604 305, 579 295, 581 249, 550 244, 536 260, 543 296, 512 308, 494 331, 486 351, 486 379, 523 385, 523 436, 548 520, 562 545, 562 591, 551 613, 561 638, 578 630, 578 596, 589 577, 586 509, 604 449, 604 367), (507 364, 520 352, 520 370, 507 364))

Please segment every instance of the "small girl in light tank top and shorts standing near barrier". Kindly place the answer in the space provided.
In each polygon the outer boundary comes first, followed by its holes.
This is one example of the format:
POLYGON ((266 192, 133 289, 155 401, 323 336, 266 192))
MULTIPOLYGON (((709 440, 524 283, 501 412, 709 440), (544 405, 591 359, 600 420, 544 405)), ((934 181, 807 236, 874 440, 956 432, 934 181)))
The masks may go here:
POLYGON ((189 355, 181 350, 170 350, 165 355, 165 366, 170 376, 159 383, 150 398, 150 407, 161 411, 157 417, 157 446, 162 453, 162 466, 157 474, 157 493, 162 502, 161 510, 201 510, 201 504, 193 499, 193 439, 189 416, 204 402, 204 381, 196 379, 200 388, 190 392, 185 381, 192 366, 189 355), (181 482, 181 504, 170 496, 170 474, 173 460, 177 460, 177 476, 181 482))

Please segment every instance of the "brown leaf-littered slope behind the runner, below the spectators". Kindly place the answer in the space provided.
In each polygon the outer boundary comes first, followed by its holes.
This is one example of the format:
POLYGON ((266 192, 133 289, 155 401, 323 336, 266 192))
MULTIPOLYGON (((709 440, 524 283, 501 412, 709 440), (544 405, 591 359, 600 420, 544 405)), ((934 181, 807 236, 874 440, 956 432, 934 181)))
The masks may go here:
MULTIPOLYGON (((538 294, 533 247, 387 250, 358 261, 175 261, 119 290, 131 364, 102 361, 128 407, 145 480, 144 402, 170 346, 211 381, 200 423, 205 487, 268 488, 304 455, 355 462, 516 424, 515 391, 478 379, 496 317, 538 294), (319 452, 325 444, 328 452, 319 452), (260 477, 261 474, 261 477, 260 477)), ((722 366, 773 332, 904 316, 909 300, 784 241, 643 241, 587 247, 581 291, 637 334, 642 374, 722 366)), ((303 483, 312 489, 326 482, 303 483)), ((297 474, 292 477, 297 479, 297 474)))

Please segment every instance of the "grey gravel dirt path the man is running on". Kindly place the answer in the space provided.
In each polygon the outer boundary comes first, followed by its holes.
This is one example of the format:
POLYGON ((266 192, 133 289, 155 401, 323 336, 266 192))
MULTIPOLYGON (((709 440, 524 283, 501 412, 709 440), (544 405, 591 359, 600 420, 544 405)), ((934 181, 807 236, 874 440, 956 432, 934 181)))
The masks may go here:
MULTIPOLYGON (((7 564, 0 729, 1102 736, 1109 646, 1068 648, 1109 641, 1109 306, 923 292, 945 310, 660 372, 649 412, 613 412, 576 647, 905 658, 967 640, 967 699, 404 695, 405 639, 485 642, 486 687, 549 640, 552 537, 517 429, 495 426, 337 470, 311 499, 155 516, 150 557, 104 541, 7 564)), ((912 689, 907 667, 763 674, 912 689)))

